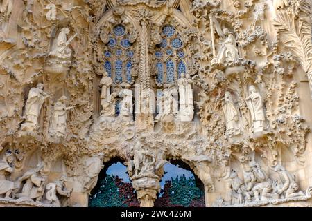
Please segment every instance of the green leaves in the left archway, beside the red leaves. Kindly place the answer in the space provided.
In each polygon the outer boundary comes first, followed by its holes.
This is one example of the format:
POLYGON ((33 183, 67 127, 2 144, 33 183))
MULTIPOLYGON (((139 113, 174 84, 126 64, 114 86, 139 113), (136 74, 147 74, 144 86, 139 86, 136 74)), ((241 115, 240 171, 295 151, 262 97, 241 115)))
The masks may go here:
POLYGON ((97 193, 89 198, 89 207, 126 207, 123 203, 125 198, 119 194, 117 180, 120 179, 114 175, 107 175, 101 180, 97 193))

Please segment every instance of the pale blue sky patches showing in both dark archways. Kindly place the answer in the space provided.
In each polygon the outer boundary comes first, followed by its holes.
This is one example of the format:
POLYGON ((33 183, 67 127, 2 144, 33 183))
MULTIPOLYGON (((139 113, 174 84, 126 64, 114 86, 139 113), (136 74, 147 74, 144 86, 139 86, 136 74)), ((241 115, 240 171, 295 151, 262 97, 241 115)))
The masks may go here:
MULTIPOLYGON (((118 175, 119 178, 123 179, 123 182, 130 182, 128 174, 126 173, 126 171, 127 171, 127 167, 124 166, 123 164, 121 164, 121 162, 117 162, 115 164, 112 164, 112 166, 110 166, 107 169, 106 173, 108 175, 118 175)), ((165 181, 171 180, 171 177, 175 178, 177 176, 182 176, 183 174, 187 178, 194 177, 194 175, 191 171, 187 171, 186 169, 180 168, 180 166, 178 166, 178 165, 175 166, 175 165, 170 164, 170 163, 166 163, 164 165, 164 171, 165 171, 165 174, 162 177, 162 182, 160 183, 162 188, 164 187, 165 181)))

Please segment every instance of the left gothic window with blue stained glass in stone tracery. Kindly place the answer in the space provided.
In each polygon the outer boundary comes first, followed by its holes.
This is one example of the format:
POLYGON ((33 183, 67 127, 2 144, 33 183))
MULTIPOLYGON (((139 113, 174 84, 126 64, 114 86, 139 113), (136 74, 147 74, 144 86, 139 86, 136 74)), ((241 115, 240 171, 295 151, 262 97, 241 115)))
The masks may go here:
POLYGON ((129 32, 119 24, 112 28, 109 41, 105 44, 104 67, 115 84, 131 83, 135 51, 129 40, 129 32))

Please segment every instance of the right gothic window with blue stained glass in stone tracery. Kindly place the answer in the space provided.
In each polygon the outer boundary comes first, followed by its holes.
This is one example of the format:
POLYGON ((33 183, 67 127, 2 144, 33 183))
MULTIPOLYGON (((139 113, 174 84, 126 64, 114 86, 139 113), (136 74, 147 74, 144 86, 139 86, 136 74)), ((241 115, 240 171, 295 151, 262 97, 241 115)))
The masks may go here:
POLYGON ((157 84, 174 84, 181 73, 187 72, 184 44, 177 28, 171 24, 162 27, 162 42, 155 50, 157 84))

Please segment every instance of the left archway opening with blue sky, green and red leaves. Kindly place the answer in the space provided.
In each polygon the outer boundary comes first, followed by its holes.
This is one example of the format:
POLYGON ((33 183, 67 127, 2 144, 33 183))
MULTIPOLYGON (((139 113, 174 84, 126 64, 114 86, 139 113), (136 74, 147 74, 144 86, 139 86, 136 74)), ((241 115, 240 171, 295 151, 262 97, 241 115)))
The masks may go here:
POLYGON ((89 196, 89 207, 139 207, 127 167, 120 158, 107 162, 89 196))

